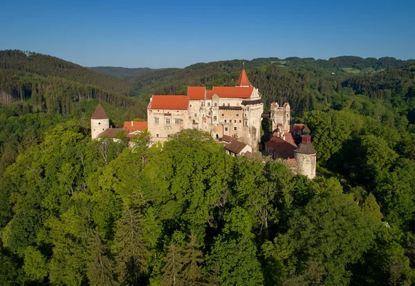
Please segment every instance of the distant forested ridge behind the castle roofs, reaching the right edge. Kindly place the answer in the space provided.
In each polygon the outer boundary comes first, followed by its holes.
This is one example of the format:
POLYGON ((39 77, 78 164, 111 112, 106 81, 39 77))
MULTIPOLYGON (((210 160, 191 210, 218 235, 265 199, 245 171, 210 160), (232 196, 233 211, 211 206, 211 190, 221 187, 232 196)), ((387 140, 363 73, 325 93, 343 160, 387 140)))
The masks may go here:
MULTIPOLYGON (((286 59, 279 59, 277 57, 270 58, 257 58, 248 60, 234 59, 229 61, 213 61, 210 63, 198 63, 187 66, 186 68, 179 70, 156 70, 151 73, 145 73, 138 75, 131 79, 136 82, 136 93, 141 96, 148 96, 151 93, 157 94, 185 94, 187 86, 221 86, 234 84, 241 72, 242 66, 248 70, 248 76, 250 77, 252 84, 261 90, 268 89, 268 86, 262 86, 261 83, 255 83, 255 76, 263 76, 271 79, 273 75, 264 73, 268 70, 279 70, 279 73, 286 73, 284 78, 279 79, 279 83, 284 86, 287 83, 288 78, 291 77, 290 73, 308 73, 306 78, 317 77, 318 79, 327 78, 344 79, 355 75, 374 75, 387 68, 402 68, 405 66, 411 66, 415 64, 415 60, 400 60, 393 57, 366 58, 362 57, 333 57, 326 59, 314 59, 314 58, 299 58, 289 57, 286 59), (281 69, 273 67, 286 68, 284 72, 281 69), (332 73, 335 75, 333 76, 332 73), (253 75, 253 76, 252 76, 253 75)), ((279 76, 277 76, 279 77, 279 76)), ((295 81, 295 79, 289 79, 289 81, 295 81)), ((274 84, 275 78, 273 79, 274 84)), ((302 81, 302 79, 300 79, 302 81)), ((279 88, 278 93, 284 93, 286 88, 279 88)), ((273 90, 274 93, 277 90, 273 90)), ((286 90, 286 95, 288 95, 286 90)), ((268 95, 270 96, 270 95, 268 95)))

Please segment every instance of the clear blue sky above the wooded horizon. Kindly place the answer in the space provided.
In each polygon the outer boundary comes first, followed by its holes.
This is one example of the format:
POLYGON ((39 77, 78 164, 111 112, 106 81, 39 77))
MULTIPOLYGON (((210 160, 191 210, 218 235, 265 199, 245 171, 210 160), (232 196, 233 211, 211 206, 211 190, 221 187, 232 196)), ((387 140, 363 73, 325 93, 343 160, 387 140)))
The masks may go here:
POLYGON ((415 58, 415 1, 4 1, 0 50, 82 66, 256 57, 415 58))

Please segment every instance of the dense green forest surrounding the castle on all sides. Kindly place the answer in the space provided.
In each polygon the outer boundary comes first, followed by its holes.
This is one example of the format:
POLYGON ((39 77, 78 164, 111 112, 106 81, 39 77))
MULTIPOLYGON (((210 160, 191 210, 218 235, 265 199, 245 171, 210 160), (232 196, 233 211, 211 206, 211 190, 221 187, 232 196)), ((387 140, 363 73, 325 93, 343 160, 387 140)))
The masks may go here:
POLYGON ((91 141, 98 102, 120 126, 145 118, 151 93, 234 84, 243 61, 109 77, 122 85, 110 90, 106 75, 74 64, 65 75, 43 55, 30 67, 33 54, 19 53, 3 53, 0 68, 0 93, 27 87, 0 106, 1 285, 415 282, 413 61, 246 61, 265 105, 288 100, 292 123, 311 129, 309 180, 284 161, 228 156, 195 130, 150 148, 146 133, 133 149, 91 141), (74 97, 92 84, 131 103, 74 97), (70 108, 53 108, 64 99, 70 108))

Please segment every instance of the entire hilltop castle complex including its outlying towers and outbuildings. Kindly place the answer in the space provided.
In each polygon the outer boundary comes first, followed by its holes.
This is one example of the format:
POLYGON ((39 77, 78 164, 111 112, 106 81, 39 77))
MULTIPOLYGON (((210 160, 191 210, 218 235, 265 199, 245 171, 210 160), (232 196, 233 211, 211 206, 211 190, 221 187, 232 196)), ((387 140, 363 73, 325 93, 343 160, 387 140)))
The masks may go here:
POLYGON ((148 122, 124 122, 124 128, 110 128, 109 117, 98 104, 91 117, 91 137, 116 138, 148 128, 152 142, 164 142, 169 136, 188 128, 206 131, 218 142, 226 144, 232 155, 251 153, 261 139, 261 117, 270 118, 273 133, 265 143, 267 155, 295 162, 299 173, 315 177, 316 153, 310 130, 302 124, 290 125, 291 107, 276 102, 263 113, 261 93, 250 83, 243 69, 235 86, 188 86, 187 95, 153 95, 147 106, 148 122), (302 125, 302 128, 295 126, 302 125), (300 139, 298 145, 295 139, 300 139), (226 139, 225 139, 226 138, 226 139))

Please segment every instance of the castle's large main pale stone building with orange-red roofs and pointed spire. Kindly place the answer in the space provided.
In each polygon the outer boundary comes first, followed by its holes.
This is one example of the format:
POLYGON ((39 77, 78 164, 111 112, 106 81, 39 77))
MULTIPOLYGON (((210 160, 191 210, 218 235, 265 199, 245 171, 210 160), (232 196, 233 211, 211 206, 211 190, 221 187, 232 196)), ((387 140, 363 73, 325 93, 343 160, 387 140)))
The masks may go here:
POLYGON ((235 86, 187 87, 187 95, 153 95, 147 106, 149 132, 163 142, 182 129, 198 128, 216 140, 230 135, 257 149, 261 137, 261 93, 242 70, 235 86))

